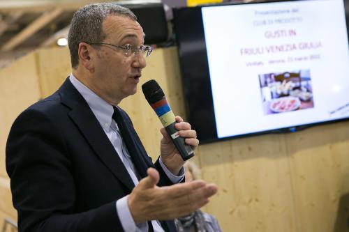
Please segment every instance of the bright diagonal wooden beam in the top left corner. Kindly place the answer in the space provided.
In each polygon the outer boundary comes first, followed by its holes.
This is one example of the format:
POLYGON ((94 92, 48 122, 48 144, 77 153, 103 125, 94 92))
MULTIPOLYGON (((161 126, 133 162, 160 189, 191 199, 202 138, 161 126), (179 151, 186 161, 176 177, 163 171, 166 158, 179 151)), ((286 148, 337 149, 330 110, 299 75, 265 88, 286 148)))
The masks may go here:
POLYGON ((10 41, 6 42, 6 44, 1 47, 1 51, 10 51, 17 45, 20 45, 24 40, 32 36, 34 33, 36 33, 36 31, 42 29, 47 23, 54 20, 54 18, 56 18, 62 12, 63 10, 61 8, 54 8, 53 10, 43 13, 20 33, 11 38, 10 41))

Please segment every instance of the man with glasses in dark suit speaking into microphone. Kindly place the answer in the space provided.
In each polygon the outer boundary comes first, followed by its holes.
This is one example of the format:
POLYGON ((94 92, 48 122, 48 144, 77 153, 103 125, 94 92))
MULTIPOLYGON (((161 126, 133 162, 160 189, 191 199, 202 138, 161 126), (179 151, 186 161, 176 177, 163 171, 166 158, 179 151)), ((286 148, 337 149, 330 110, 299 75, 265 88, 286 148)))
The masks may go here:
MULTIPOLYGON (((20 231, 175 231, 171 219, 216 193, 200 180, 181 183, 184 162, 163 129, 153 164, 117 106, 136 92, 151 53, 143 43, 127 8, 95 3, 75 13, 68 35, 73 73, 22 112, 8 137, 20 231)), ((186 144, 198 146, 191 126, 176 120, 186 144)))

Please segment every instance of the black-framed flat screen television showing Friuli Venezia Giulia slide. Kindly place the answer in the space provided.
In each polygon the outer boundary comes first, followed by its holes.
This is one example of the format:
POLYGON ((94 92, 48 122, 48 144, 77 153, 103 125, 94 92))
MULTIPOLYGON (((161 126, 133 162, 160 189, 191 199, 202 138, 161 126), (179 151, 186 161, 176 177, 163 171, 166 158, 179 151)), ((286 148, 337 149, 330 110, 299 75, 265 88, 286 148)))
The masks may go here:
POLYGON ((174 33, 201 143, 349 118, 343 0, 177 8, 174 33))

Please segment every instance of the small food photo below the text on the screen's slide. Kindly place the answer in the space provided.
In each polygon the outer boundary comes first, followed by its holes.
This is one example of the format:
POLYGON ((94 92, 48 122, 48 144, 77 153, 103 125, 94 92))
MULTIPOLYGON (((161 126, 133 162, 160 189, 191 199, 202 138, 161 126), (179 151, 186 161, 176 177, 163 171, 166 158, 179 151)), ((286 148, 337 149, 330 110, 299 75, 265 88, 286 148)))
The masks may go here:
POLYGON ((264 114, 279 114, 314 107, 310 70, 259 75, 264 114))

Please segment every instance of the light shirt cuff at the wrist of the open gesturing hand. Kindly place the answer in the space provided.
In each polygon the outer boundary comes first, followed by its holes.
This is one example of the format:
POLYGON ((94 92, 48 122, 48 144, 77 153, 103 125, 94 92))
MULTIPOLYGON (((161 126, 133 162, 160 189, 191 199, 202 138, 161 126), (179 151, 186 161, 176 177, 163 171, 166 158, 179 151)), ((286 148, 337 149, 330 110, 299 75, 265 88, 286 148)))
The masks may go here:
POLYGON ((147 231, 148 224, 147 222, 135 225, 135 221, 130 212, 130 208, 128 208, 128 195, 123 198, 117 200, 117 215, 119 216, 119 221, 121 223, 122 229, 124 231, 147 231))

